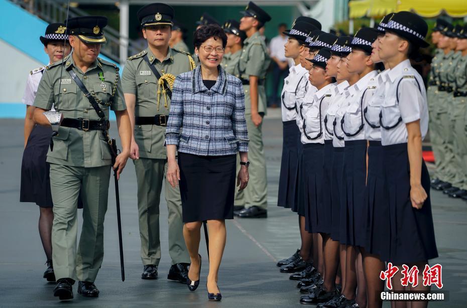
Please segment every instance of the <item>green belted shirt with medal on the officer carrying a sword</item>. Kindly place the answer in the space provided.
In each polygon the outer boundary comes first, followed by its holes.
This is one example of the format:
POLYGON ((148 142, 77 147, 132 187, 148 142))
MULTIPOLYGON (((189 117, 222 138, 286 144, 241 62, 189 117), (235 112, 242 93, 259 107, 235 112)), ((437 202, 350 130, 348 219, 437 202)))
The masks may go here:
MULTIPOLYGON (((83 73, 73 61, 72 54, 63 61, 46 67, 36 93, 34 106, 50 110, 52 105, 56 111, 62 112, 64 118, 82 118, 99 120, 99 116, 89 100, 78 88, 67 72, 68 67, 76 73, 78 78, 90 93, 95 93, 99 107, 108 119, 109 108, 125 110, 125 99, 118 67, 100 58, 83 73), (99 79, 103 73, 104 81, 99 79), (61 75, 61 79, 60 79, 61 75), (101 84, 103 85, 101 86, 101 84), (116 85, 112 97, 112 87, 116 85)), ((49 149, 47 162, 74 167, 101 167, 111 164, 109 146, 101 130, 78 130, 76 128, 60 126, 58 135, 53 138, 53 151, 49 149)))

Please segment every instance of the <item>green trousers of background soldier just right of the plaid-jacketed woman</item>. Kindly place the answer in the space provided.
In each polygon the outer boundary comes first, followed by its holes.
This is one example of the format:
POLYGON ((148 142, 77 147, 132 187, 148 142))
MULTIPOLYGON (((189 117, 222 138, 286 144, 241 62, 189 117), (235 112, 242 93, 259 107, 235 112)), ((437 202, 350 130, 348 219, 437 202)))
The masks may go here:
MULTIPOLYGON (((250 175, 250 180, 248 181, 247 188, 243 191, 238 192, 238 189, 236 189, 234 204, 245 204, 246 208, 256 205, 266 209, 268 207, 268 182, 266 176, 266 159, 264 156, 263 122, 256 127, 256 125, 253 124, 251 114, 246 113, 245 118, 247 120, 248 138, 250 138, 250 142, 248 143, 248 160, 250 161, 248 173, 250 175), (245 201, 242 204, 239 200, 245 201)), ((237 164, 240 165, 240 163, 237 164)))

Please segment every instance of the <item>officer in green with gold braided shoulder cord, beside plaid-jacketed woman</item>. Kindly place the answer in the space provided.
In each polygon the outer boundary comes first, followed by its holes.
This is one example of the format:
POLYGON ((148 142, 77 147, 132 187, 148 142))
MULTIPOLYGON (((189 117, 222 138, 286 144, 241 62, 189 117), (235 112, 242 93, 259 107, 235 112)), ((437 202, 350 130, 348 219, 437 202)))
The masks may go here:
POLYGON ((169 47, 174 10, 163 3, 141 8, 137 13, 148 48, 128 58, 122 86, 132 121, 130 158, 138 181, 138 212, 143 279, 157 279, 161 259, 159 204, 162 184, 169 211, 168 279, 186 283, 190 257, 183 239, 180 191, 165 180, 167 155, 164 134, 175 76, 190 71, 194 64, 187 53, 169 47), (160 76, 160 78, 158 77, 160 76))

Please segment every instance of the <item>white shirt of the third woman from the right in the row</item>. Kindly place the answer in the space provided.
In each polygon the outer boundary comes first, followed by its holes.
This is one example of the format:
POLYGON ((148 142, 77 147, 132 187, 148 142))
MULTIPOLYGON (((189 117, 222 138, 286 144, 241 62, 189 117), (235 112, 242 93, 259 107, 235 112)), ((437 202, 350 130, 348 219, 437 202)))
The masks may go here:
MULTIPOLYGON (((371 71, 359 79, 349 90, 352 95, 346 99, 345 112, 343 115, 343 123, 337 122, 337 125, 342 125, 344 132, 344 140, 363 140, 365 139, 365 119, 363 118, 363 105, 362 98, 367 95, 368 84, 375 80, 378 71, 371 71), (354 135, 354 136, 349 136, 354 135)), ((342 106, 344 107, 344 106, 342 106)))

